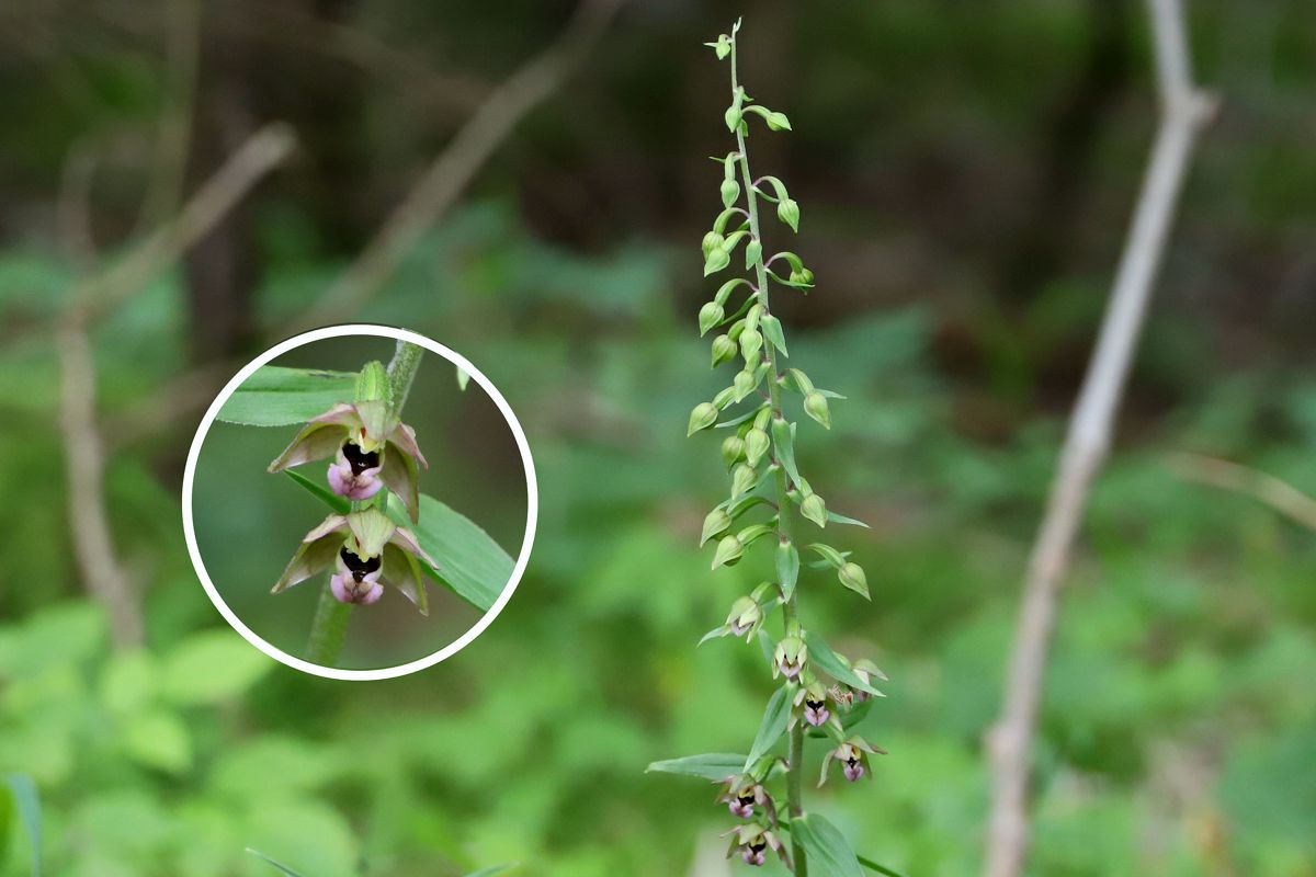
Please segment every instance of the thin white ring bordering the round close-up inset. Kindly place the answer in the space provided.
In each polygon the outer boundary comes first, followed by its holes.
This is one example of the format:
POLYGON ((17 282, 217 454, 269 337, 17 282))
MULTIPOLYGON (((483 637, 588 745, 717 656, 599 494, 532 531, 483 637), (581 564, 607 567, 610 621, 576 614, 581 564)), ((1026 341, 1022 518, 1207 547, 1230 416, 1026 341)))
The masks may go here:
POLYGON ((224 619, 229 622, 233 630, 236 630, 238 634, 242 635, 242 639, 247 640, 249 643, 259 648, 262 652, 265 652, 274 660, 279 661, 280 664, 284 664, 286 667, 301 671, 303 673, 311 673, 312 676, 321 676, 324 678, 337 678, 346 681, 371 681, 383 678, 396 678, 399 676, 408 676, 417 671, 433 667, 434 664, 438 664, 440 661, 451 657, 457 652, 466 648, 471 642, 475 640, 476 636, 484 632, 486 627, 494 623, 494 619, 499 617, 499 613, 503 611, 503 607, 507 606, 507 602, 512 598, 512 594, 516 592, 516 586, 521 582, 521 576, 525 575, 525 567, 530 561, 530 548, 534 546, 534 530, 536 525, 538 523, 538 518, 540 518, 540 483, 534 473, 534 459, 530 456, 530 443, 525 438, 525 430, 521 429, 521 422, 517 419, 516 413, 512 410, 512 406, 508 405, 507 400, 503 397, 503 393, 500 393, 497 387, 495 387, 494 383, 484 376, 484 372, 472 366, 471 362, 465 356, 462 356, 461 354, 445 347, 443 344, 440 344, 436 341, 426 338, 425 335, 420 335, 407 329, 397 329, 395 326, 380 326, 374 323, 343 323, 338 326, 322 326, 320 329, 312 329, 299 335, 293 335, 287 341, 282 341, 270 350, 265 351, 263 354, 253 359, 250 363, 243 366, 242 369, 237 375, 234 375, 228 384, 224 385, 224 389, 220 391, 220 394, 215 397, 213 402, 211 402, 211 408, 207 409, 205 417, 201 418, 201 423, 196 427, 196 435, 192 438, 192 447, 187 452, 187 467, 183 469, 183 536, 187 540, 187 554, 192 559, 192 567, 196 571, 196 577, 201 581, 201 586, 205 589, 205 593, 211 598, 211 602, 215 604, 215 607, 220 610, 220 614, 224 615, 224 619), (501 412, 504 419, 507 421, 508 427, 511 427, 512 430, 513 438, 516 439, 516 446, 521 451, 521 463, 525 467, 525 498, 526 498, 525 536, 521 540, 521 554, 517 556, 516 565, 512 568, 512 577, 508 579, 507 585, 503 586, 503 590, 497 596, 497 600, 494 601, 494 605, 490 606, 488 611, 486 611, 480 617, 480 619, 471 626, 470 630, 467 630, 458 639, 449 643, 443 648, 438 650, 433 655, 428 655, 426 657, 420 657, 415 661, 408 661, 405 664, 397 664, 396 667, 383 667, 379 669, 363 669, 363 671, 338 669, 336 667, 321 667, 320 664, 312 664, 311 661, 303 660, 300 657, 293 657, 292 655, 266 642, 255 631, 247 627, 242 622, 242 619, 238 618, 232 609, 229 609, 229 605, 224 602, 224 598, 220 596, 220 592, 215 586, 215 582, 211 581, 211 576, 205 569, 205 563, 201 560, 201 552, 196 544, 196 526, 192 521, 192 485, 196 476, 196 462, 200 458, 201 446, 205 443, 205 437, 211 431, 211 426, 215 423, 215 419, 218 415, 220 409, 224 406, 224 402, 228 401, 229 396, 232 396, 233 392, 237 391, 237 388, 241 387, 247 377, 255 373, 258 368, 261 368, 270 360, 275 359, 276 356, 286 354, 296 347, 301 347, 303 344, 308 344, 313 341, 324 341, 326 338, 343 338, 347 335, 375 335, 378 338, 392 338, 395 341, 407 341, 413 344, 418 344, 433 354, 442 356, 447 362, 453 363, 454 366, 465 371, 467 375, 471 376, 471 379, 476 384, 480 385, 480 389, 488 393, 490 398, 494 400, 494 404, 497 406, 499 412, 501 412))

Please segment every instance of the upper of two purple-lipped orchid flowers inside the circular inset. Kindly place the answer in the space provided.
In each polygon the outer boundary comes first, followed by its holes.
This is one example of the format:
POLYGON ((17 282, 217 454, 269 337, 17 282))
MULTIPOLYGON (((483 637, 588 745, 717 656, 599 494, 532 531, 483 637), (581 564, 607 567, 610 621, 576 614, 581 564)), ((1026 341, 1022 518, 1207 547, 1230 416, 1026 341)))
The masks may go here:
POLYGON ((271 464, 270 472, 325 458, 329 486, 347 500, 368 500, 387 486, 412 521, 420 519, 420 468, 429 468, 416 431, 382 401, 340 404, 312 417, 271 464))

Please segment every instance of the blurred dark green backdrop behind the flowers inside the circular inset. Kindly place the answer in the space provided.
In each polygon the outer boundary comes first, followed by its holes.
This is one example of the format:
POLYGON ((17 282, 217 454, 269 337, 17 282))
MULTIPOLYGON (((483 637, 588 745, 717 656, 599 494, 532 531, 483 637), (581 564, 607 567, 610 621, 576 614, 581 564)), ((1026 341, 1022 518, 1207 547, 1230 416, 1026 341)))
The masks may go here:
MULTIPOLYGON (((315 341, 271 360, 286 368, 359 371, 374 359, 388 363, 391 338, 359 335, 315 341)), ((430 464, 421 471, 424 492, 442 497, 494 536, 513 557, 525 534, 526 485, 512 430, 494 400, 471 381, 463 391, 457 368, 425 354, 407 398, 403 421, 417 434, 430 464), (501 430, 499 430, 501 426, 501 430)), ((215 421, 197 455, 192 521, 207 572, 229 609, 267 643, 303 655, 324 576, 309 588, 271 597, 275 579, 301 538, 329 510, 287 476, 266 472, 297 434, 297 426, 237 426, 215 421)), ((326 462, 297 471, 322 484, 326 462)), ((396 590, 368 611, 353 613, 342 668, 405 664, 437 652, 479 621, 482 613, 451 590, 433 586, 422 617, 396 590)))

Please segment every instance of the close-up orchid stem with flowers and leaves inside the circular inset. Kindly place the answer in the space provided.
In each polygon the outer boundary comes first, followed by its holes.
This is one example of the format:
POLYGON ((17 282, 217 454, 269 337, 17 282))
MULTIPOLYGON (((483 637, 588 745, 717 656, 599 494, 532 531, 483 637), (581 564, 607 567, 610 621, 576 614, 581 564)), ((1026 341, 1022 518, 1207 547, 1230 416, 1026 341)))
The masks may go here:
POLYGON ((271 590, 329 573, 304 653, 311 663, 333 665, 351 610, 388 589, 428 615, 433 580, 487 611, 512 575, 511 556, 484 530, 420 489, 429 463, 401 417, 422 352, 399 341, 387 367, 372 360, 355 373, 266 366, 218 414, 249 426, 301 425, 267 469, 330 514, 303 536, 271 590), (326 467, 312 477, 317 463, 326 467))

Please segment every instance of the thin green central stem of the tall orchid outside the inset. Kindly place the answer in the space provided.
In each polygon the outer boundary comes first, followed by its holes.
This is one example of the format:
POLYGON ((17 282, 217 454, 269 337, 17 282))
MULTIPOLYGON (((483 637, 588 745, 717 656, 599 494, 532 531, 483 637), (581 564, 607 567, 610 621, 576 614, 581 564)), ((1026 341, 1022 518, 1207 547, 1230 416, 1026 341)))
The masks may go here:
MULTIPOLYGON (((732 99, 740 88, 740 80, 736 72, 736 45, 737 34, 732 34, 732 99)), ((758 226, 758 199, 754 192, 754 178, 749 172, 749 153, 745 147, 745 133, 736 129, 736 147, 740 150, 740 167, 741 178, 745 181, 745 199, 749 202, 749 231, 754 241, 762 241, 759 235, 758 226)), ((769 313, 767 306, 767 267, 763 264, 763 258, 759 256, 758 262, 754 264, 755 279, 758 280, 758 301, 763 305, 763 313, 769 313)), ((780 375, 776 371, 776 348, 771 342, 763 344, 767 359, 767 397, 769 405, 772 409, 772 418, 783 418, 782 413, 782 385, 780 375)), ((776 534, 779 539, 786 539, 788 542, 795 542, 795 521, 794 509, 791 506, 791 498, 787 496, 787 481, 786 469, 778 463, 776 464, 776 534)), ((799 606, 796 604, 799 594, 799 588, 791 593, 791 598, 782 604, 782 622, 790 627, 791 622, 799 618, 799 606)), ((788 767, 786 773, 786 806, 791 817, 804 815, 804 723, 796 722, 795 727, 791 728, 790 738, 790 756, 787 759, 788 767)), ((795 865, 795 877, 808 877, 809 874, 809 861, 804 852, 804 845, 791 832, 791 861, 795 865)))

